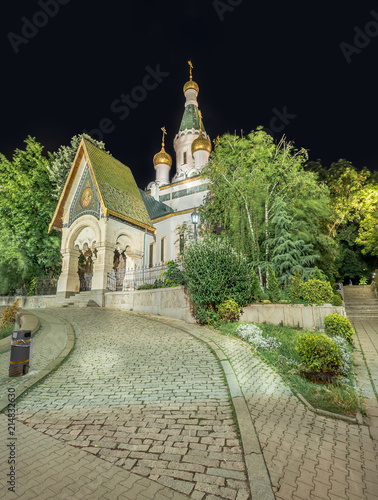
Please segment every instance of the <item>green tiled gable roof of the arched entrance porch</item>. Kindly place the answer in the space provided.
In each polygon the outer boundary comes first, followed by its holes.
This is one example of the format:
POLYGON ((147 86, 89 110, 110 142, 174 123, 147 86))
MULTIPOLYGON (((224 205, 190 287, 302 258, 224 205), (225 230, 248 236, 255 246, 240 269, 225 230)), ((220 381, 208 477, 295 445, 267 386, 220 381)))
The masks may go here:
POLYGON ((129 167, 84 139, 102 199, 108 210, 152 227, 142 195, 129 167))

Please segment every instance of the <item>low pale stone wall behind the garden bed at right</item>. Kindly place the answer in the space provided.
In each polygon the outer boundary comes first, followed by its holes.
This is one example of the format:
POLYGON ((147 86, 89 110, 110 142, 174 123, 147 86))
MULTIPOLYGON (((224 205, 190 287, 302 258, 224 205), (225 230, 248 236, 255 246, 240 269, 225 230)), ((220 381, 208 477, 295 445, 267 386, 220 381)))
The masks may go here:
POLYGON ((256 304, 246 306, 241 321, 270 323, 272 325, 295 326, 315 330, 324 329, 327 314, 346 316, 345 308, 331 305, 304 306, 303 304, 256 304))

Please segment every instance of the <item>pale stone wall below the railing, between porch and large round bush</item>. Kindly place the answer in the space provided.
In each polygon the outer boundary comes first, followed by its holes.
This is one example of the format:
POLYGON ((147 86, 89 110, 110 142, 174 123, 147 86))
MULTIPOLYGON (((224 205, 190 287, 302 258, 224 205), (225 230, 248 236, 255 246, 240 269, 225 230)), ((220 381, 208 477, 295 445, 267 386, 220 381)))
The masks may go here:
POLYGON ((189 297, 183 286, 137 290, 135 292, 107 292, 105 294, 105 307, 132 309, 133 311, 182 319, 189 323, 195 322, 190 312, 189 297))

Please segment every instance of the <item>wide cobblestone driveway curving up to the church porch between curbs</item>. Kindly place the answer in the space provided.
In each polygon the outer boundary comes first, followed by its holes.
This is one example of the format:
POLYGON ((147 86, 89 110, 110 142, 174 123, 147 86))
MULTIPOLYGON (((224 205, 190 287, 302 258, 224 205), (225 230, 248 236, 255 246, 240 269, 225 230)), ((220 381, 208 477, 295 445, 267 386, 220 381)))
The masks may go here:
POLYGON ((77 343, 17 403, 20 421, 193 499, 250 497, 224 375, 205 344, 127 312, 46 312, 67 319, 77 343))

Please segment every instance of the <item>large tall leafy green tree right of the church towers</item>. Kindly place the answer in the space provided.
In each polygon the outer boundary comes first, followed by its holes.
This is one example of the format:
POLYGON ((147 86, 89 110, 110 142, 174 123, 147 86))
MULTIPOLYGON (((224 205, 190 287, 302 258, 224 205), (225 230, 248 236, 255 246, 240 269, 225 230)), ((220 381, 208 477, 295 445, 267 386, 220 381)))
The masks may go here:
MULTIPOLYGON (((291 260, 284 259, 283 274, 294 272, 292 265, 298 255, 302 262, 297 264, 302 265, 320 247, 321 253, 330 254, 323 224, 328 216, 328 189, 317 183, 315 174, 304 171, 306 159, 304 149, 295 149, 285 138, 275 144, 260 127, 247 137, 226 134, 219 138, 201 173, 209 181, 209 195, 202 207, 205 231, 216 233, 222 228, 227 233, 234 247, 253 264, 261 288, 266 263, 283 234, 278 198, 287 217, 295 221, 289 230, 285 219, 291 242, 286 255, 291 260)), ((278 260, 279 254, 274 253, 278 260)), ((281 272, 279 266, 276 271, 281 272)))

